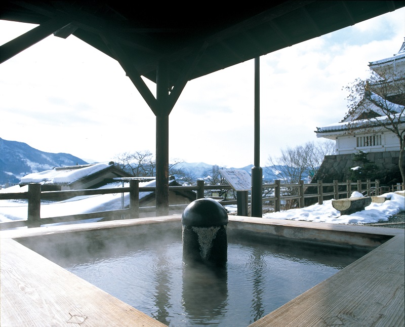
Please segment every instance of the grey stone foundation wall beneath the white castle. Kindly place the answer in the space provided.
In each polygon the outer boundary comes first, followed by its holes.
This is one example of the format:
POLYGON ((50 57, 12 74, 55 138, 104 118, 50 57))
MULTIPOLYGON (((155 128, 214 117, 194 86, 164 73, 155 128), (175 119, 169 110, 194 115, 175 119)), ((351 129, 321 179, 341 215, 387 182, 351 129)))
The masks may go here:
MULTIPOLYGON (((390 152, 370 152, 367 158, 374 162, 378 167, 377 179, 380 185, 393 185, 401 182, 398 160, 399 151, 390 152)), ((354 154, 326 155, 323 159, 312 183, 322 180, 325 183, 331 183, 333 180, 344 182, 349 179, 350 168, 357 166, 354 162, 354 154)))

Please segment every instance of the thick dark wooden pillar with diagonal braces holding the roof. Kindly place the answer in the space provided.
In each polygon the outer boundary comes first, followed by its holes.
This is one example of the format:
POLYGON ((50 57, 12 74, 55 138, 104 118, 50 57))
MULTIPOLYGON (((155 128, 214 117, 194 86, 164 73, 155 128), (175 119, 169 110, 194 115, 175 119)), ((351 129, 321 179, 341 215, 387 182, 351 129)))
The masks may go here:
POLYGON ((169 215, 169 67, 160 62, 156 76, 156 216, 169 215))

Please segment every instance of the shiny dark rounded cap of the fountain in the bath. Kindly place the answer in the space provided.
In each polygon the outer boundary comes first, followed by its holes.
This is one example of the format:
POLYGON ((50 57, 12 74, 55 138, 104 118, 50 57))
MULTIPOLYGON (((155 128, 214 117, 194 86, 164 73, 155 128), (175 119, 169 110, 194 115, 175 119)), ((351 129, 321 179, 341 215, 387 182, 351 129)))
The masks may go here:
POLYGON ((222 205, 210 198, 192 201, 181 216, 186 226, 210 227, 228 224, 228 214, 222 205))

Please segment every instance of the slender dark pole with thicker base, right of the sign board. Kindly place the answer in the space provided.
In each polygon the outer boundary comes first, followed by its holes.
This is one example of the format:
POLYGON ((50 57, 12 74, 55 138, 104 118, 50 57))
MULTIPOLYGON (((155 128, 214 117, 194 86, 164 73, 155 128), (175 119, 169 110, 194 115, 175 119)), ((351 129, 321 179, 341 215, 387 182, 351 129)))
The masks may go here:
POLYGON ((252 167, 252 217, 263 216, 263 170, 260 167, 260 58, 255 58, 255 144, 252 167))

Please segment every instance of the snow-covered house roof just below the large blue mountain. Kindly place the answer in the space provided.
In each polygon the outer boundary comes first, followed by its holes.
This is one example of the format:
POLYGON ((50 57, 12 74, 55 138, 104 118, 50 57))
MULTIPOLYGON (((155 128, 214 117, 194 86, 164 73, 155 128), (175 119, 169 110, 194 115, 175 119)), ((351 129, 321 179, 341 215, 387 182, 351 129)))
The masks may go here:
POLYGON ((113 164, 101 163, 81 166, 55 167, 39 173, 31 173, 21 178, 20 185, 39 183, 42 185, 68 185, 82 178, 109 169, 113 164))

